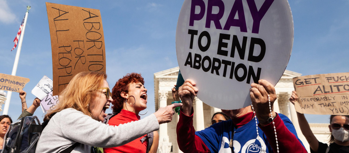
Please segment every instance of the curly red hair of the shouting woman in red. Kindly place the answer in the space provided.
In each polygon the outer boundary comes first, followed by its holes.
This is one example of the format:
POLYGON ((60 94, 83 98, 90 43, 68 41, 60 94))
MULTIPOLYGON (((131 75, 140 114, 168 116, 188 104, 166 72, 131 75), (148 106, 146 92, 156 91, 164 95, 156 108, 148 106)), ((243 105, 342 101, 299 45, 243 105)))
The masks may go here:
POLYGON ((144 79, 142 78, 141 74, 138 73, 127 73, 123 78, 119 79, 115 86, 113 87, 113 92, 111 94, 113 98, 113 106, 111 109, 113 110, 113 113, 118 113, 122 109, 124 97, 121 97, 121 93, 125 92, 128 93, 128 84, 129 83, 136 83, 141 82, 142 85, 144 85, 144 79))

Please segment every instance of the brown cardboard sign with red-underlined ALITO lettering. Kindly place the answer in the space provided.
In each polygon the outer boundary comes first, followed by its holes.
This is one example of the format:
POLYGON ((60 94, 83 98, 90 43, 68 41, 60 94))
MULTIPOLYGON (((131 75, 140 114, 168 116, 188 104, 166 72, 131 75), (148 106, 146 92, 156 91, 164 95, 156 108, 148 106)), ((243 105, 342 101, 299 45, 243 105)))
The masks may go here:
POLYGON ((293 78, 298 100, 296 111, 305 114, 348 115, 349 73, 330 73, 293 78))

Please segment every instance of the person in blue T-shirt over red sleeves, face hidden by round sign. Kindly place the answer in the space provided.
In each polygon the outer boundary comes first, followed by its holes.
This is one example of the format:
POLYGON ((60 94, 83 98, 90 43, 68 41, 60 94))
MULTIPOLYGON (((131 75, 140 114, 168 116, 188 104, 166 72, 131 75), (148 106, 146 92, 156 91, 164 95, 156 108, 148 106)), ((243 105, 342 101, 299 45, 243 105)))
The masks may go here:
POLYGON ((195 132, 192 105, 199 90, 194 81, 187 79, 178 91, 183 102, 177 124, 180 150, 185 153, 307 152, 290 119, 273 111, 273 103, 276 100, 274 86, 266 80, 258 82, 259 84, 251 84, 250 98, 253 107, 249 105, 241 109, 222 110, 230 120, 195 132))

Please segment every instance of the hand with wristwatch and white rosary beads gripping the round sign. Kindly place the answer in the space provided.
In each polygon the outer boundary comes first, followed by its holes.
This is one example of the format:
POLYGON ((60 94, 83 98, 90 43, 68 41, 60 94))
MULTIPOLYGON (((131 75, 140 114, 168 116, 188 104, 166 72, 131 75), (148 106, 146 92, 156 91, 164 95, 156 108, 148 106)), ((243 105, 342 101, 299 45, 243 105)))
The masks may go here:
POLYGON ((259 80, 258 83, 259 84, 251 84, 252 88, 250 89, 250 96, 257 118, 265 121, 270 116, 268 94, 270 97, 270 108, 272 110, 273 117, 276 115, 273 110, 273 104, 276 100, 276 92, 274 86, 268 81, 259 80))

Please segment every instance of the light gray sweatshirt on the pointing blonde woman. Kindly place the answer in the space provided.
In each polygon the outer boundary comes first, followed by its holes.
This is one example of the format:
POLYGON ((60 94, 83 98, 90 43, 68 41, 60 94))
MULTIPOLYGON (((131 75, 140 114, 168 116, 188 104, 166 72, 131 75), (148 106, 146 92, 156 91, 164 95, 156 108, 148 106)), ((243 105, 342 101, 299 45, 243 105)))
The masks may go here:
POLYGON ((58 153, 79 142, 81 144, 72 153, 89 153, 91 146, 121 146, 158 129, 159 123, 154 114, 139 121, 109 126, 81 111, 68 108, 50 119, 39 138, 36 152, 58 153))

